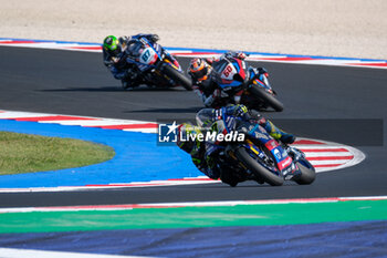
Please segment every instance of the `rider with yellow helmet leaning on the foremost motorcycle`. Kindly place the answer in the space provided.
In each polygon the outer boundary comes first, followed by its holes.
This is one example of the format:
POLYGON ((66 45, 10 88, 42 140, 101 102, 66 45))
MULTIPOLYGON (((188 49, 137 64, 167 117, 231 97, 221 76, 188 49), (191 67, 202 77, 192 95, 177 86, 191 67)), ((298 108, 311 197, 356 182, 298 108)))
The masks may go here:
POLYGON ((205 175, 212 179, 220 178, 223 183, 230 186, 236 186, 238 183, 247 180, 248 178, 236 177, 234 173, 231 173, 222 163, 218 163, 217 156, 209 153, 209 145, 203 141, 181 141, 180 136, 186 137, 187 134, 199 134, 205 133, 205 131, 220 130, 217 127, 217 121, 222 117, 222 113, 239 117, 241 121, 259 124, 264 127, 268 133, 275 140, 282 142, 283 144, 291 144, 295 141, 294 135, 285 133, 284 131, 276 127, 271 121, 264 118, 257 111, 248 111, 244 105, 229 105, 219 110, 216 109, 203 109, 197 114, 197 124, 192 125, 189 123, 182 123, 179 125, 177 145, 179 148, 191 155, 191 159, 197 168, 205 175))

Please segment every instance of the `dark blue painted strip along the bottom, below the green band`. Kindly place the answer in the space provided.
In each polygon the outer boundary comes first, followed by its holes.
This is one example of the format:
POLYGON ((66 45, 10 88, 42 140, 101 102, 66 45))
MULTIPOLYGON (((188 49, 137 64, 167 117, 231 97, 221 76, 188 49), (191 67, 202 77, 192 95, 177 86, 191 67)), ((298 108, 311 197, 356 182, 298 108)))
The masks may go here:
POLYGON ((387 220, 369 220, 0 234, 0 247, 153 257, 387 257, 386 228, 387 220))

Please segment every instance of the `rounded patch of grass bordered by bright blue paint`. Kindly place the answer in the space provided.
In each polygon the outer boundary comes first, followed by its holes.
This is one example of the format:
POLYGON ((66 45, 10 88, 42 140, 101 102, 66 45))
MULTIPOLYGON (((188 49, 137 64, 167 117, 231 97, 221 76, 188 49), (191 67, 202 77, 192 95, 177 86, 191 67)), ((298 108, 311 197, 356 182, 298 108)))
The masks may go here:
POLYGON ((0 175, 81 167, 114 155, 112 147, 91 142, 0 132, 0 175))

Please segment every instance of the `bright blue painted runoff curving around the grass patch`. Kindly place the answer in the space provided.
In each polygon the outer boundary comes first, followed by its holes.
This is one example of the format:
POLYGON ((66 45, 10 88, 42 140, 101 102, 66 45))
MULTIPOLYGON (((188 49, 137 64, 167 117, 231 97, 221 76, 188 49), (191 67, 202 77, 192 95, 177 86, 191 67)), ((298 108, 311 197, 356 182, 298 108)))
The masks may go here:
POLYGON ((84 186, 148 182, 202 175, 177 146, 157 145, 156 134, 0 121, 0 131, 77 138, 112 146, 113 159, 85 167, 0 176, 0 188, 84 186))

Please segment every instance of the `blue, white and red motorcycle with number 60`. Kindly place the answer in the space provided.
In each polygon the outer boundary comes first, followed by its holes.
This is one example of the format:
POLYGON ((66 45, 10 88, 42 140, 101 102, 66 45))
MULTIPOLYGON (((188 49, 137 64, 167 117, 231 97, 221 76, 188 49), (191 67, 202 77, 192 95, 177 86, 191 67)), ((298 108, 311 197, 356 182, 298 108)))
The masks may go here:
POLYGON ((251 110, 272 107, 283 111, 283 104, 269 83, 269 74, 264 69, 248 68, 243 60, 236 58, 221 59, 212 63, 215 81, 228 95, 221 97, 218 106, 243 104, 251 110))

